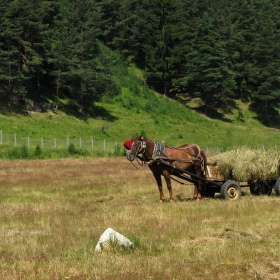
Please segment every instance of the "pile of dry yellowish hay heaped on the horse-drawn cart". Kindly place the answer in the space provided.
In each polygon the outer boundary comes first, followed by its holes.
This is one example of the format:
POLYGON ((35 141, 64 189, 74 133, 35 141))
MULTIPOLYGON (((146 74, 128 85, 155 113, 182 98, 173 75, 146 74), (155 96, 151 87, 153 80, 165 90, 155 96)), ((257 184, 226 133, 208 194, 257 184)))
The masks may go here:
POLYGON ((219 166, 219 175, 224 180, 275 178, 278 177, 280 152, 241 147, 208 158, 208 163, 219 166))

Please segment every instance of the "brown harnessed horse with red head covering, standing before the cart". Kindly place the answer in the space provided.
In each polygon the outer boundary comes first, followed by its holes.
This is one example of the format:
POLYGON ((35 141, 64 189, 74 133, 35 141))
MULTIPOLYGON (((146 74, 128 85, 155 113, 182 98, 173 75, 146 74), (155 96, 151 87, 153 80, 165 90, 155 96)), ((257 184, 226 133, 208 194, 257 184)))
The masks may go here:
MULTIPOLYGON (((191 172, 200 178, 206 178, 207 158, 204 151, 196 144, 184 144, 177 148, 171 148, 165 146, 162 142, 155 142, 145 137, 137 136, 125 141, 124 147, 129 150, 127 154, 128 160, 133 161, 138 158, 144 163, 148 163, 157 181, 160 201, 164 201, 161 175, 165 178, 170 201, 174 200, 170 177, 174 172, 173 167, 191 172)), ((204 182, 196 180, 194 181, 194 186, 193 199, 201 199, 204 182)))

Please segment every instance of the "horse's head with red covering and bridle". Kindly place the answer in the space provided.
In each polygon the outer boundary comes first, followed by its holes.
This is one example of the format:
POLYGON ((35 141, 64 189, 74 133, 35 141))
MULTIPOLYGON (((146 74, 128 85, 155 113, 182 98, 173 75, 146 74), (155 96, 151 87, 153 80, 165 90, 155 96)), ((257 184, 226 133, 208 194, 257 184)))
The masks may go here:
POLYGON ((136 136, 131 140, 126 140, 123 145, 128 150, 127 159, 133 161, 138 155, 144 155, 147 148, 147 140, 143 136, 136 136))

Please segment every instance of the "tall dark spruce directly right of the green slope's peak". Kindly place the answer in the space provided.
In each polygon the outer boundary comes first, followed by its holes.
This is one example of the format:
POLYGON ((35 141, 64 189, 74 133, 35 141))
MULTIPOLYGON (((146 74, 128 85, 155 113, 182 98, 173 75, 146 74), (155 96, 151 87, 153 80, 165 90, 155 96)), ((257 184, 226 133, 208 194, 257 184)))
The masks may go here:
POLYGON ((177 1, 143 1, 137 9, 145 20, 140 37, 141 53, 147 81, 161 93, 168 94, 168 84, 173 76, 174 27, 177 23, 177 1))

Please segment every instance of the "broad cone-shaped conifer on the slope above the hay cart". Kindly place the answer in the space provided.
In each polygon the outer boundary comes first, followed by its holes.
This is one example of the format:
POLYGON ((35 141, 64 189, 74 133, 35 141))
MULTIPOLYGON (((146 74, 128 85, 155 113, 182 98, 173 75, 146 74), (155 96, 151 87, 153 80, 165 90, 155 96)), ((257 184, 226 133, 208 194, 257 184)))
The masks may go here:
POLYGON ((181 79, 181 84, 192 89, 194 96, 201 98, 205 114, 209 107, 230 110, 234 105, 234 77, 228 69, 226 53, 214 29, 214 22, 207 12, 199 22, 186 61, 186 76, 181 79))

